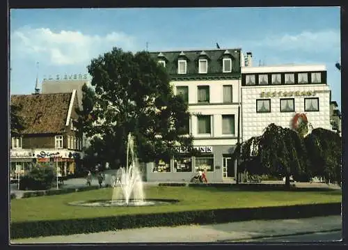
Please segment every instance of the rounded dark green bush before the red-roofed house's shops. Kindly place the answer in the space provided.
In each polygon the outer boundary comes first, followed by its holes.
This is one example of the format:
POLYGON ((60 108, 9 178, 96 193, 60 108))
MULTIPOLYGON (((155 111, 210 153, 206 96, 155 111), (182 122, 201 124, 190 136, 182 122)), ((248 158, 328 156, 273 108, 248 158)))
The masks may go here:
POLYGON ((19 180, 19 189, 21 190, 45 190, 52 187, 55 180, 55 170, 49 166, 35 166, 19 180))

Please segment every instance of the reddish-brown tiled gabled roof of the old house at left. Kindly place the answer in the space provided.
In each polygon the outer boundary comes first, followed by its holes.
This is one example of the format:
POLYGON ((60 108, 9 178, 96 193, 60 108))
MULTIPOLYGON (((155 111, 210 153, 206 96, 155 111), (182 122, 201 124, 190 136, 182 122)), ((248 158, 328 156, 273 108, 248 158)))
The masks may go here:
POLYGON ((26 129, 23 134, 59 134, 65 122, 72 93, 11 95, 11 104, 20 105, 26 129))

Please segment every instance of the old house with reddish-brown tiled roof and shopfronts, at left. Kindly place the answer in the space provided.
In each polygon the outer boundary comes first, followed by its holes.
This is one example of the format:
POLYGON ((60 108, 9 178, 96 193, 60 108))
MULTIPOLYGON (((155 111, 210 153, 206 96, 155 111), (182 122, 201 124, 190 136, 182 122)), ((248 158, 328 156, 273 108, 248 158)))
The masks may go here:
POLYGON ((74 173, 75 159, 81 157, 81 133, 77 130, 77 93, 11 95, 11 104, 25 123, 20 138, 11 138, 10 175, 25 172, 32 164, 58 166, 63 175, 74 173))

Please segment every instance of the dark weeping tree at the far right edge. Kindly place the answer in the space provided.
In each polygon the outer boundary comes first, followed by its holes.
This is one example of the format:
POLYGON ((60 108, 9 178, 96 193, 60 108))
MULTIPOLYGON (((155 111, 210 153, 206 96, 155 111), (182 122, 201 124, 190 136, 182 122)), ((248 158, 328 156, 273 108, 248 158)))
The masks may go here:
POLYGON ((316 128, 306 139, 310 159, 310 171, 326 182, 341 183, 342 142, 340 136, 331 130, 316 128))

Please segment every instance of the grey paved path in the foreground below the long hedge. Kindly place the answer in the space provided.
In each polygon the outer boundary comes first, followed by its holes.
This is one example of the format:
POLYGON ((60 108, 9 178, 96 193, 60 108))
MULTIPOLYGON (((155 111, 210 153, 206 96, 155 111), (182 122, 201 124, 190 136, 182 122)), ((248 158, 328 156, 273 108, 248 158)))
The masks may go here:
MULTIPOLYGON (((102 233, 38 237, 13 240, 11 243, 102 243, 102 242, 234 242, 255 237, 274 237, 298 233, 338 231, 340 216, 273 221, 241 221, 226 224, 176 227, 136 228, 102 233)), ((322 240, 325 239, 323 235, 322 240)))

